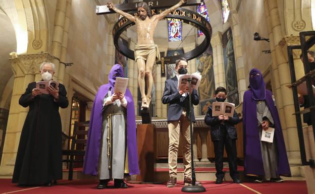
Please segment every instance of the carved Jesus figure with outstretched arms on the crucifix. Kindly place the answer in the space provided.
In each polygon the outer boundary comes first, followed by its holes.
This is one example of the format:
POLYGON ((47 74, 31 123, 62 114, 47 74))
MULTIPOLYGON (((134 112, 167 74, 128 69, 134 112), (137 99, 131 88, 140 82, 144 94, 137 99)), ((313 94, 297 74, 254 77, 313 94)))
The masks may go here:
POLYGON ((107 3, 107 7, 116 13, 124 16, 128 20, 136 24, 137 29, 137 44, 134 48, 135 61, 138 66, 138 83, 142 98, 142 108, 148 108, 151 101, 151 91, 153 87, 152 70, 156 58, 160 60, 160 52, 158 45, 154 44, 153 34, 158 25, 158 22, 165 18, 168 14, 179 8, 185 3, 185 0, 180 0, 173 7, 166 9, 161 14, 151 16, 151 10, 145 2, 137 5, 138 16, 132 16, 122 10, 117 9, 113 3, 107 3), (145 94, 145 84, 146 93, 145 94))

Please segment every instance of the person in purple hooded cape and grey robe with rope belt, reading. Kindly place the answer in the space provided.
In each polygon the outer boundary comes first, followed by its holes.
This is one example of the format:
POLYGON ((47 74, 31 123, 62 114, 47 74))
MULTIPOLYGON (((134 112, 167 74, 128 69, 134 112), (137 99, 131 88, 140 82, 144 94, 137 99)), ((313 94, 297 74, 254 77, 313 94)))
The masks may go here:
POLYGON ((120 64, 96 93, 87 135, 83 173, 98 175, 99 189, 112 178, 115 187, 128 187, 123 181, 126 156, 129 174, 139 174, 133 97, 128 88, 125 94, 113 93, 117 77, 124 77, 120 64))

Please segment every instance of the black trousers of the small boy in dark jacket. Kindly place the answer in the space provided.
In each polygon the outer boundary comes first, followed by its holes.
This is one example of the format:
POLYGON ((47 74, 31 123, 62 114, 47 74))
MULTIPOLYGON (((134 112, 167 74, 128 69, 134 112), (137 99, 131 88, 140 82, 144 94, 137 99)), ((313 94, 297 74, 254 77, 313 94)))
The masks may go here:
POLYGON ((236 140, 231 139, 226 131, 225 127, 221 127, 222 138, 220 140, 214 141, 215 146, 215 160, 216 160, 216 176, 217 178, 223 178, 223 154, 224 146, 229 159, 230 176, 235 179, 239 178, 237 171, 237 154, 236 154, 236 140))

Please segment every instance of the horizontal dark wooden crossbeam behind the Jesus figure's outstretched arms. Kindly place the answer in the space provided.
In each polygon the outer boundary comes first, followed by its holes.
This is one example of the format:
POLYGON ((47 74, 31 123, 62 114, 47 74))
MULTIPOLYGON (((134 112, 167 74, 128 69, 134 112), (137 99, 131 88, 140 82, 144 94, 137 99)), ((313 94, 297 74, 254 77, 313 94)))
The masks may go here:
MULTIPOLYGON (((147 3, 151 9, 161 9, 161 8, 170 8, 174 6, 175 4, 177 4, 179 1, 177 0, 154 0, 154 1, 143 0, 143 2, 147 3)), ((133 3, 128 3, 128 4, 116 4, 115 7, 124 12, 133 12, 133 11, 137 11, 137 5, 139 3, 140 2, 133 2, 133 3)), ((181 7, 196 6, 199 4, 200 4, 200 0, 187 0, 187 2, 181 7)), ((96 6, 97 15, 113 14, 113 13, 116 13, 116 12, 114 12, 113 10, 110 10, 107 6, 96 6)))

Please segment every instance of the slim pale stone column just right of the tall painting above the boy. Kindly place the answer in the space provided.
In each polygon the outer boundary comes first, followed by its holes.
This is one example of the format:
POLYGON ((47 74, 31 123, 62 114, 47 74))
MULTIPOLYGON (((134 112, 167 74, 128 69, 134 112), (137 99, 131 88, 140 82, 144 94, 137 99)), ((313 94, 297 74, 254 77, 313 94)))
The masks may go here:
POLYGON ((243 102, 244 92, 247 90, 247 88, 246 88, 246 82, 245 82, 245 76, 244 76, 244 62, 243 62, 242 44, 241 44, 241 36, 240 36, 240 29, 239 29, 240 26, 238 24, 237 10, 230 10, 230 17, 228 21, 232 27, 238 95, 239 95, 240 102, 243 102))

